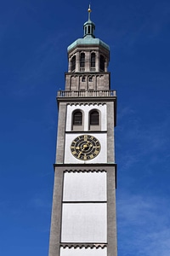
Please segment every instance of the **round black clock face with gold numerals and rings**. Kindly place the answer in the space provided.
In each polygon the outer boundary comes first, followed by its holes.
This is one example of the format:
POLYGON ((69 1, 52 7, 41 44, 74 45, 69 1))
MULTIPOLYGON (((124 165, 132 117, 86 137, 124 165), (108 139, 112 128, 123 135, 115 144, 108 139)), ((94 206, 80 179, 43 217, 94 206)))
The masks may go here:
POLYGON ((91 135, 76 137, 71 143, 71 154, 79 160, 92 160, 99 154, 99 140, 91 135))

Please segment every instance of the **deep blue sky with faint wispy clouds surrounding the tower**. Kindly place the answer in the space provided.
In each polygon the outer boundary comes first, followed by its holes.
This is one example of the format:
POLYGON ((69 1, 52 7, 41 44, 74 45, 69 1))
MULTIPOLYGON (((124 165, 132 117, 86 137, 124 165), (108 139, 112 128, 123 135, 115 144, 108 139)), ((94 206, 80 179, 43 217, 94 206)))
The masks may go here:
MULTIPOLYGON (((48 255, 57 105, 88 1, 0 4, 0 254, 48 255)), ((170 3, 91 1, 117 91, 118 256, 170 252, 170 3)))

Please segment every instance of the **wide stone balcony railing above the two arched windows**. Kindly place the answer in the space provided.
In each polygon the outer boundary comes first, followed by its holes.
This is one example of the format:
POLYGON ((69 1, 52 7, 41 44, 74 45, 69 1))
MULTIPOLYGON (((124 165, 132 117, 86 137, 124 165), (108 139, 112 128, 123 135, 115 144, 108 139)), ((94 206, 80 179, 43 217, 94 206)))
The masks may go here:
POLYGON ((116 90, 59 90, 58 97, 112 97, 116 90))

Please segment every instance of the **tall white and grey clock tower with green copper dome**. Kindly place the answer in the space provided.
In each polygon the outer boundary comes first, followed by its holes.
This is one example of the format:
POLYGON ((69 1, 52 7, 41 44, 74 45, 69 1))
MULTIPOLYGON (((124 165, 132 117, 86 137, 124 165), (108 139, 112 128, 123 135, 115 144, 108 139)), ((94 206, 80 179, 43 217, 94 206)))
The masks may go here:
POLYGON ((83 38, 68 47, 59 90, 49 256, 116 256, 116 91, 110 48, 95 38, 88 9, 83 38))

